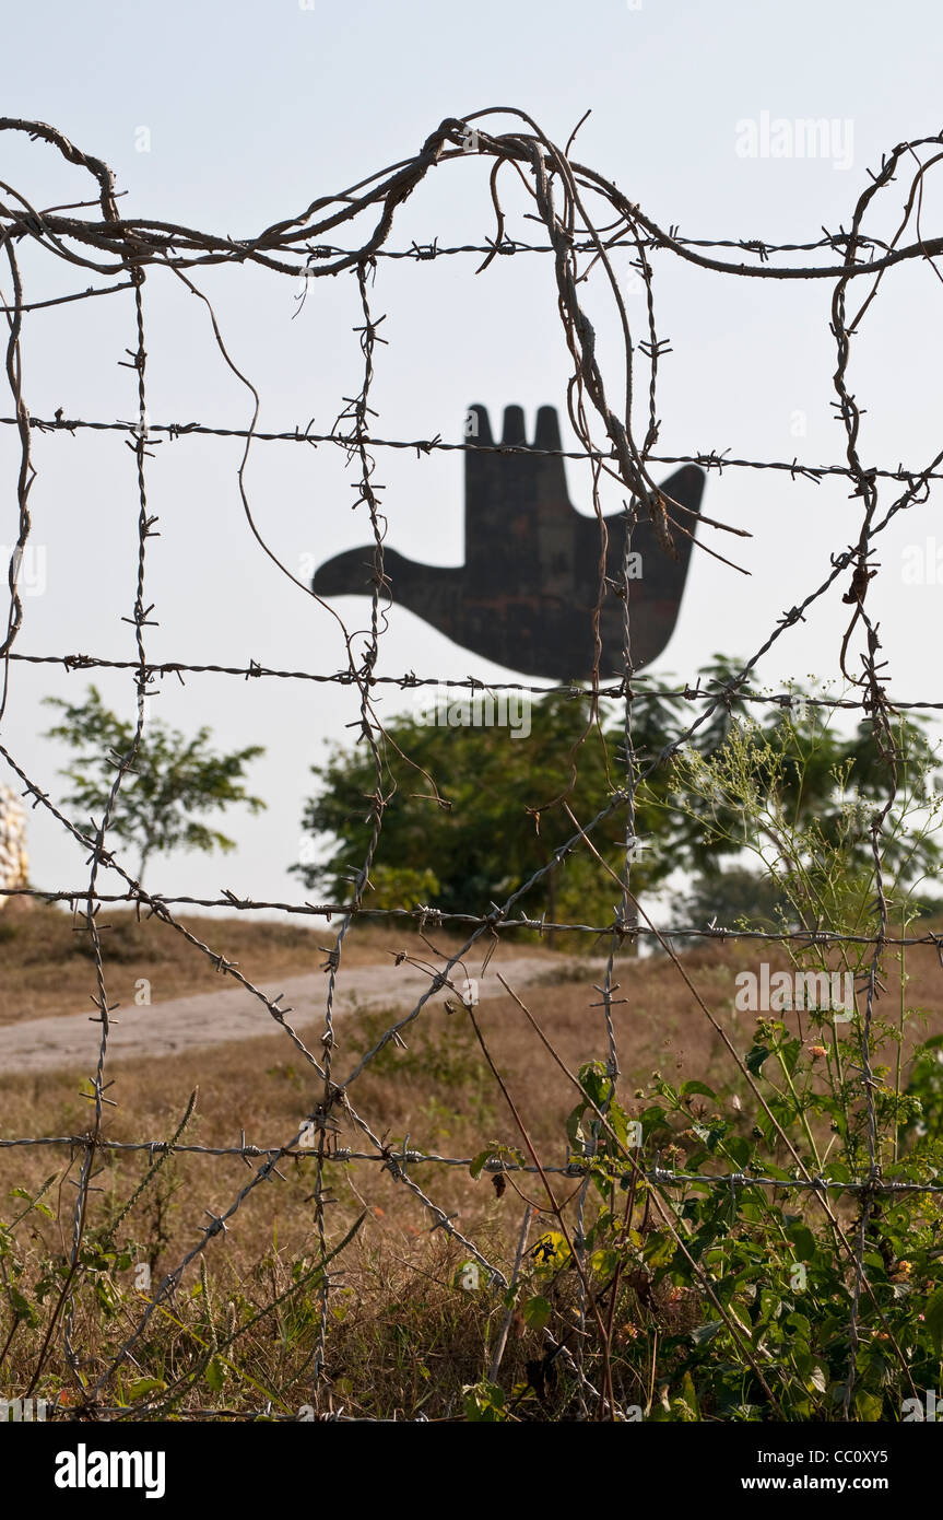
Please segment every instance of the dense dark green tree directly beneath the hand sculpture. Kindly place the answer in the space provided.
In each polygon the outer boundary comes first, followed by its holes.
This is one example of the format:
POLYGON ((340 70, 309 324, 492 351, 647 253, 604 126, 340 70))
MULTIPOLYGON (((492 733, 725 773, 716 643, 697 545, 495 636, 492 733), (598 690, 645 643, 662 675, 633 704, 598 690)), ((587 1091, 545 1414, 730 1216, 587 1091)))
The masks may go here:
MULTIPOLYGON (((460 693, 457 693, 457 699, 460 693)), ((665 736, 680 727, 677 699, 645 699, 633 707, 632 743, 644 765, 665 736)), ((413 906, 422 900, 445 912, 480 912, 503 901, 535 871, 547 874, 521 903, 528 917, 553 923, 607 923, 620 903, 618 882, 586 847, 560 863, 556 851, 576 828, 607 806, 624 786, 623 717, 615 713, 588 727, 589 702, 553 695, 530 710, 530 734, 503 727, 437 727, 412 717, 386 724, 381 757, 383 830, 371 868, 371 906, 413 906), (424 774, 425 772, 425 774, 424 774), (431 780, 430 780, 431 778, 431 780)), ((317 795, 302 827, 326 839, 320 863, 293 869, 305 888, 334 900, 364 857, 372 833, 377 775, 372 752, 334 746, 313 766, 317 795)), ((668 845, 677 833, 665 804, 671 777, 654 772, 639 792, 633 834, 644 848, 632 866, 633 892, 648 892, 676 863, 668 845)), ((626 809, 592 833, 592 842, 618 876, 626 851, 626 809)))

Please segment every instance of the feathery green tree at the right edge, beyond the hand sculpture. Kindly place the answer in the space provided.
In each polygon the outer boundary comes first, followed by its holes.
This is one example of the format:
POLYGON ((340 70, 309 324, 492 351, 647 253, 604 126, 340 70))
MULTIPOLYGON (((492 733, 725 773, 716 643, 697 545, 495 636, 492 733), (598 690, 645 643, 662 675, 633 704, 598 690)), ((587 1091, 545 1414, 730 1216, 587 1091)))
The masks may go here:
POLYGON ((943 860, 943 798, 938 745, 920 719, 891 714, 879 737, 870 722, 846 734, 834 708, 799 690, 784 708, 733 699, 730 717, 720 745, 686 746, 673 762, 671 803, 694 869, 688 906, 699 921, 712 906, 718 923, 730 923, 730 909, 747 906, 750 880, 755 907, 740 921, 826 927, 838 901, 852 898, 864 918, 875 895, 872 821, 891 790, 878 836, 882 877, 896 904, 926 910, 922 889, 935 885, 943 860), (733 863, 724 869, 724 860, 733 863))

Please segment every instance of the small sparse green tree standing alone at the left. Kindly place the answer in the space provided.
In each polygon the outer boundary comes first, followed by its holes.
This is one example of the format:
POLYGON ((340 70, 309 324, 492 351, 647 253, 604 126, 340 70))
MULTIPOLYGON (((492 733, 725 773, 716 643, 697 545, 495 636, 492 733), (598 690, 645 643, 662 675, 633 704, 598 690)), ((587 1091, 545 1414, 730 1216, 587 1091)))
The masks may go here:
MULTIPOLYGON (((115 766, 134 743, 135 725, 111 713, 94 686, 84 702, 49 696, 46 704, 62 711, 62 720, 46 737, 61 739, 77 751, 74 762, 59 771, 73 784, 65 803, 100 821, 115 766)), ((234 839, 194 813, 217 812, 232 803, 244 803, 252 813, 266 807, 243 786, 246 765, 263 755, 264 748, 249 745, 232 754, 214 754, 210 734, 210 728, 199 728, 187 739, 159 719, 144 727, 134 768, 126 772, 111 812, 111 831, 138 851, 138 882, 155 854, 235 848, 234 839)))

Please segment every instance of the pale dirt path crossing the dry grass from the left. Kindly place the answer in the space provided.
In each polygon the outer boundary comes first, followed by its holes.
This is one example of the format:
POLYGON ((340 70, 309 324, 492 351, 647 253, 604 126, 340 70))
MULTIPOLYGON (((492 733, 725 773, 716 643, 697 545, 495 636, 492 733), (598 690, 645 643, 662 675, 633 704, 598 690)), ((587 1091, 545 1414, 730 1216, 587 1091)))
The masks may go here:
MULTIPOLYGON (((504 993, 497 970, 515 991, 519 991, 547 977, 548 971, 554 980, 562 982, 577 968, 583 977, 592 974, 586 961, 560 958, 559 964, 548 965, 547 958, 495 956, 486 974, 478 977, 478 997, 500 997, 504 993)), ((468 970, 472 973, 477 965, 469 964, 468 970)), ((405 964, 396 967, 392 961, 384 965, 351 967, 339 977, 334 1009, 340 1017, 357 1006, 408 1011, 428 988, 428 976, 415 967, 405 964)), ((460 971, 453 973, 453 982, 462 988, 460 971)), ((317 1026, 323 1020, 326 986, 325 974, 311 971, 285 977, 278 983, 266 983, 261 991, 269 999, 282 994, 281 1006, 285 1012, 292 1009, 287 1014, 289 1023, 301 1034, 305 1026, 317 1026)), ((454 1000, 456 994, 446 988, 436 997, 454 1000)), ((181 1055, 185 1050, 199 1050, 231 1040, 252 1040, 276 1029, 278 1024, 257 997, 243 988, 232 988, 222 993, 199 993, 194 997, 175 997, 166 1003, 152 1003, 149 1008, 121 1005, 112 1018, 108 1049, 112 1061, 143 1055, 181 1055)), ((0 1029, 0 1075, 52 1072, 73 1066, 91 1072, 97 1061, 99 1035, 96 1020, 74 1014, 8 1024, 0 1029)))

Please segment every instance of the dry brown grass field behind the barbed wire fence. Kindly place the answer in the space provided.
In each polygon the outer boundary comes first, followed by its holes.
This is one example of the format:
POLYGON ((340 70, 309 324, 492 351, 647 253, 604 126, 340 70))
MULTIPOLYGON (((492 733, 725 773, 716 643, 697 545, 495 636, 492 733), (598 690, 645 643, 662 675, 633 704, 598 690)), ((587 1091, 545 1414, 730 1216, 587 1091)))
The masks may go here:
MULTIPOLYGON (((39 1011, 61 1012, 67 999, 74 1000, 79 1011, 82 996, 88 996, 93 985, 93 962, 84 948, 85 936, 73 936, 68 920, 64 915, 47 917, 49 912, 43 909, 36 915, 21 915, 5 923, 5 927, 15 926, 12 935, 0 936, 0 1009, 5 1020, 39 1011), (44 947, 47 959, 41 955, 44 947), (50 955, 61 959, 49 959, 50 955), (26 1011, 21 999, 32 996, 33 990, 39 990, 39 1006, 33 1003, 26 1011)), ((131 915, 126 917, 131 920, 131 915)), ((331 942, 323 929, 295 930, 246 924, 243 920, 193 923, 214 948, 219 945, 234 955, 246 974, 260 979, 310 970, 317 964, 313 961, 317 944, 331 942)), ((451 947, 439 936, 436 944, 451 947)), ((106 936, 106 945, 112 952, 108 982, 115 988, 115 996, 120 996, 121 976, 128 976, 131 982, 138 976, 150 976, 155 997, 220 985, 205 958, 197 956, 179 936, 169 935, 166 926, 135 926, 128 921, 106 936)), ((405 947, 402 935, 389 930, 352 935, 348 964, 381 961, 383 953, 393 947, 405 947)), ((427 947, 422 947, 422 953, 428 958, 427 947)), ((747 947, 744 955, 743 947, 738 952, 729 944, 711 944, 682 959, 705 1003, 735 1047, 746 1052, 752 1043, 755 1015, 733 1012, 735 973, 756 968, 761 959, 768 959, 774 968, 785 968, 787 959, 758 945, 747 947)), ((592 985, 600 979, 600 965, 588 962, 585 974, 560 980, 559 959, 547 952, 547 961, 545 982, 531 986, 524 1000, 560 1058, 576 1072, 583 1061, 606 1055, 603 1014, 598 1006, 592 1006, 600 1002, 592 985)), ((899 968, 891 953, 885 970, 888 988, 894 991, 888 993, 881 1012, 893 1020, 897 1014, 894 993, 899 968)), ((943 1032, 943 971, 929 945, 908 952, 907 970, 908 1005, 923 1011, 910 1024, 907 1049, 911 1049, 929 1034, 943 1032)), ((642 1090, 648 1088, 651 1075, 658 1070, 671 1082, 692 1078, 709 1082, 727 1117, 733 1108, 726 1099, 741 1096, 746 1132, 752 1123, 747 1088, 720 1035, 711 1028, 671 962, 665 956, 639 959, 626 955, 617 971, 621 983, 618 996, 626 999, 615 1008, 615 1023, 624 1079, 623 1100, 630 1114, 644 1107, 642 1090), (633 1093, 638 1094, 635 1099, 633 1093)), ((384 1011, 361 1011, 339 1021, 336 1078, 346 1076, 392 1017, 384 1011)), ((510 997, 481 1003, 475 1017, 539 1155, 547 1164, 563 1163, 563 1126, 577 1100, 576 1088, 510 997)), ((800 1017, 785 1015, 787 1021, 800 1017)), ((302 1028, 301 1032, 310 1035, 311 1043, 320 1031, 302 1028)), ((492 1142, 521 1146, 519 1131, 463 1011, 448 1015, 442 1006, 428 1005, 405 1035, 407 1049, 387 1046, 349 1091, 357 1113, 384 1145, 399 1146, 408 1134, 412 1149, 456 1158, 474 1157, 492 1142)), ((0 1134, 6 1138, 82 1134, 91 1117, 91 1105, 82 1096, 82 1090, 88 1090, 85 1076, 80 1072, 0 1076, 0 1134)), ((244 1132, 248 1145, 284 1145, 316 1105, 320 1085, 304 1058, 278 1034, 207 1049, 199 1058, 126 1059, 115 1067, 112 1076, 115 1085, 108 1096, 117 1100, 117 1107, 108 1111, 108 1138, 170 1138, 193 1088, 199 1087, 194 1117, 181 1143, 200 1146, 237 1146, 240 1132, 244 1132)), ((374 1149, 367 1137, 346 1120, 337 1143, 364 1152, 374 1149)), ((680 1143, 685 1143, 683 1137, 680 1143)), ((11 1202, 12 1189, 26 1189, 35 1195, 46 1186, 44 1201, 53 1210, 53 1218, 46 1219, 36 1213, 32 1216, 30 1231, 38 1256, 68 1251, 74 1205, 74 1189, 70 1184, 77 1176, 79 1163, 79 1152, 70 1157, 64 1146, 0 1149, 0 1218, 9 1219, 20 1211, 20 1202, 11 1202)), ((147 1164, 146 1152, 102 1152, 100 1173, 96 1176, 100 1192, 93 1195, 90 1225, 117 1211, 134 1193, 147 1164)), ((241 1157, 178 1151, 123 1225, 123 1236, 134 1242, 135 1260, 149 1262, 155 1277, 173 1268, 205 1228, 205 1211, 225 1211, 251 1181, 258 1164, 241 1157)), ((266 1294, 273 1295, 290 1281, 295 1263, 317 1254, 313 1161, 310 1157, 285 1158, 279 1172, 281 1178, 266 1181, 246 1198, 229 1221, 228 1233, 207 1248, 210 1280, 223 1295, 241 1294, 251 1301, 263 1301, 266 1294)), ((436 1373, 436 1359, 440 1359, 442 1368, 448 1365, 446 1380, 453 1397, 459 1397, 456 1389, 460 1391, 463 1382, 471 1382, 481 1373, 484 1328, 483 1307, 456 1307, 453 1274, 456 1263, 462 1260, 460 1245, 448 1242, 442 1230, 433 1228, 434 1218, 422 1201, 381 1164, 334 1163, 328 1167, 328 1175, 336 1199, 328 1210, 331 1239, 339 1240, 364 1214, 355 1243, 345 1252, 343 1263, 339 1263, 343 1266, 343 1277, 333 1295, 339 1322, 331 1366, 339 1386, 342 1391, 346 1386, 348 1362, 351 1368, 369 1362, 371 1382, 377 1383, 375 1400, 354 1408, 374 1412, 387 1408, 381 1385, 390 1400, 402 1397, 404 1408, 410 1400, 412 1408, 419 1408, 424 1397, 421 1380, 436 1373), (410 1315, 425 1315, 428 1332, 433 1301, 440 1315, 440 1339, 439 1332, 431 1339, 425 1335, 425 1360, 410 1360, 410 1315), (392 1303, 396 1304, 395 1316, 389 1312, 392 1303), (408 1397, 402 1394, 407 1385, 412 1388, 408 1397)), ((503 1196, 498 1196, 487 1175, 472 1180, 466 1164, 415 1164, 410 1176, 454 1218, 460 1231, 486 1251, 489 1260, 509 1271, 524 1199, 538 1205, 544 1202, 535 1176, 512 1178, 503 1196)), ((557 1183, 560 1196, 566 1196, 576 1186, 563 1178, 557 1178, 557 1183)), ((538 1216, 531 1237, 545 1227, 547 1218, 541 1222, 538 1216)), ((125 1286, 131 1290, 131 1269, 126 1277, 125 1286)), ((196 1265, 190 1268, 184 1283, 190 1290, 199 1290, 196 1265)), ((109 1333, 117 1335, 120 1328, 129 1328, 131 1322, 129 1310, 123 1309, 120 1324, 109 1333)), ((90 1339, 94 1339, 93 1328, 90 1339)), ((18 1351, 26 1356, 29 1345, 30 1341, 23 1335, 18 1351)), ((509 1370, 513 1370, 525 1350, 524 1342, 509 1350, 509 1370)), ((273 1379, 275 1363, 270 1359, 278 1359, 276 1351, 278 1347, 272 1347, 269 1339, 264 1345, 260 1342, 258 1356, 273 1379)), ((357 1379, 348 1382, 354 1386, 357 1379)), ((442 1383, 436 1386, 440 1389, 442 1383)))

